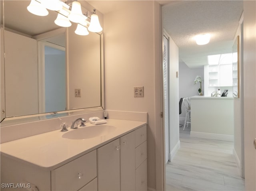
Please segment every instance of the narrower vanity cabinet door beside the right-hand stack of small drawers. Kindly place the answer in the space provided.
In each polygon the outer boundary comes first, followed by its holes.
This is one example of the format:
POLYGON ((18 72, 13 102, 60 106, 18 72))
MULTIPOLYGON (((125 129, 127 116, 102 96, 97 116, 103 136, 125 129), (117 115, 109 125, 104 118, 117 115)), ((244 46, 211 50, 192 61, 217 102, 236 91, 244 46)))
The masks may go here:
POLYGON ((135 132, 120 138, 121 191, 135 191, 135 132))

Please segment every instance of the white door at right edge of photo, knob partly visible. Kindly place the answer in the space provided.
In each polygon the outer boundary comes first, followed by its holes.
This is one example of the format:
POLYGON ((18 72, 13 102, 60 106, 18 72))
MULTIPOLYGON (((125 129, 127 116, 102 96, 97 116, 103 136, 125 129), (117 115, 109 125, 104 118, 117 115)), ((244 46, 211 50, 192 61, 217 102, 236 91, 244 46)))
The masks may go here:
POLYGON ((245 190, 256 190, 256 1, 244 1, 245 190))

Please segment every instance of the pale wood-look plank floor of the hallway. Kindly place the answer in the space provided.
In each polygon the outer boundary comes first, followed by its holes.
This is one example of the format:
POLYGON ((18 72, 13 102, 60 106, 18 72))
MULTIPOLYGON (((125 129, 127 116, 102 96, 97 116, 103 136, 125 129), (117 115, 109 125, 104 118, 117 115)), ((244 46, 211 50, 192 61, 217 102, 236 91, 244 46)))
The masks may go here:
POLYGON ((180 128, 180 149, 166 164, 166 191, 244 191, 233 142, 190 137, 180 128))

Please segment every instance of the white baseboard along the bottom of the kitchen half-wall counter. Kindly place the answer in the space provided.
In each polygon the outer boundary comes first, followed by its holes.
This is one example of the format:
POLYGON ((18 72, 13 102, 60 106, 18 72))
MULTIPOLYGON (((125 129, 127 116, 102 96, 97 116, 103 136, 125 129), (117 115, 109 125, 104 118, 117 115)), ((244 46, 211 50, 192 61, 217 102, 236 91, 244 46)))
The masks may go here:
POLYGON ((234 141, 234 135, 223 135, 214 133, 203 133, 203 132, 190 132, 191 137, 205 138, 205 139, 215 139, 223 141, 234 141))

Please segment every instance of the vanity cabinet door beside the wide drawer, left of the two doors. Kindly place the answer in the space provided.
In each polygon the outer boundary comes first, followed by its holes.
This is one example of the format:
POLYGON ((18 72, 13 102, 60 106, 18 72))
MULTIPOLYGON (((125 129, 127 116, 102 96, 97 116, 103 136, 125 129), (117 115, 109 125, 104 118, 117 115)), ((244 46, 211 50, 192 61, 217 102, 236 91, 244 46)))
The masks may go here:
POLYGON ((98 191, 120 190, 120 138, 97 149, 98 191))

